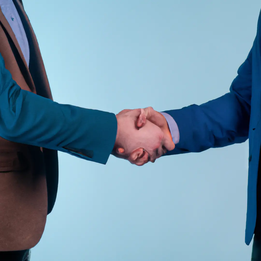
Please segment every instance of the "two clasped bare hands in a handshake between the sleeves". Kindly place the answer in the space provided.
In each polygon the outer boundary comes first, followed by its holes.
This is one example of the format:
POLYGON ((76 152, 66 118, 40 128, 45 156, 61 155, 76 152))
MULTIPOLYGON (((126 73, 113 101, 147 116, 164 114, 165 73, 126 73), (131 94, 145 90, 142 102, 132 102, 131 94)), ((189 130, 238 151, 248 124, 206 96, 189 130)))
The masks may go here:
POLYGON ((165 117, 152 107, 122 110, 116 118, 118 128, 112 155, 142 166, 175 148, 165 117))

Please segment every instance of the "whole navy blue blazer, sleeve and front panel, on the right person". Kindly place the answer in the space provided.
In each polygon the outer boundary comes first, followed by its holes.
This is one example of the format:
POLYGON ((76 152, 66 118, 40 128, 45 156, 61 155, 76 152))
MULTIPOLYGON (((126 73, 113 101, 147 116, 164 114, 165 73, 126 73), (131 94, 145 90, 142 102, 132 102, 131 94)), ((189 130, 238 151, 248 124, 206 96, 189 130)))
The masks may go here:
POLYGON ((257 217, 257 173, 261 144, 261 12, 247 59, 239 67, 229 93, 201 105, 165 111, 177 123, 179 143, 167 155, 201 152, 242 143, 249 138, 245 242, 250 244, 257 217))

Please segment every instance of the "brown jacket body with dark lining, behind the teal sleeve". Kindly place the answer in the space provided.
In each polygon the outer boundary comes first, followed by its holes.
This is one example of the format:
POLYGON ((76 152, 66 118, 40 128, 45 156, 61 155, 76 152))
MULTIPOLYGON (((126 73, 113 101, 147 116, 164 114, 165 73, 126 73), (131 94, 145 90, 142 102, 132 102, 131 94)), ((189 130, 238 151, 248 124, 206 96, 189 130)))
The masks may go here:
MULTIPOLYGON (((30 48, 29 67, 0 8, 0 53, 23 89, 45 98, 52 94, 31 23, 19 0, 16 9, 30 48)), ((0 251, 35 246, 44 231, 58 186, 57 151, 13 143, 0 137, 0 251)))

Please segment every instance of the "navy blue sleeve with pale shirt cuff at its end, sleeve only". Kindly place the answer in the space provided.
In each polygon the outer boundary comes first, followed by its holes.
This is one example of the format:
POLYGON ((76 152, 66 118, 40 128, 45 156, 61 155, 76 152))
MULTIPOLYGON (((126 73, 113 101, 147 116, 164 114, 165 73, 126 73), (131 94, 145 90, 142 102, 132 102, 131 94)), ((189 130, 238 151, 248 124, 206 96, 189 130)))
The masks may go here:
POLYGON ((239 67, 230 92, 201 105, 165 111, 179 128, 179 143, 166 155, 201 152, 248 139, 252 89, 252 49, 239 67))

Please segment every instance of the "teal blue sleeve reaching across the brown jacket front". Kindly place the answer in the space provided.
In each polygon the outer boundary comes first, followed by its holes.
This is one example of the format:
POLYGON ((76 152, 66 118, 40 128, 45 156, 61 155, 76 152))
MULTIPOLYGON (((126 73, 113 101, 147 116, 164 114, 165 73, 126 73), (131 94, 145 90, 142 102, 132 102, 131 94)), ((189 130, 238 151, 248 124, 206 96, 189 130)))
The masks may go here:
POLYGON ((0 136, 106 164, 117 134, 109 112, 59 104, 21 90, 0 54, 0 136))

